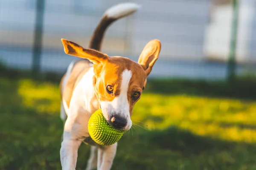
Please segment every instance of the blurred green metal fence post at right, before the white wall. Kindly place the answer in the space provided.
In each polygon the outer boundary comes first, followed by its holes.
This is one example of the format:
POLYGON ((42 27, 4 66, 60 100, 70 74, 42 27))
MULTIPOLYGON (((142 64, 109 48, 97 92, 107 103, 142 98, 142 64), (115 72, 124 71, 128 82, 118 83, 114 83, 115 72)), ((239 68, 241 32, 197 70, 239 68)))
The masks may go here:
POLYGON ((233 0, 233 17, 231 27, 230 54, 227 65, 227 79, 232 82, 236 78, 236 40, 239 15, 239 0, 233 0))

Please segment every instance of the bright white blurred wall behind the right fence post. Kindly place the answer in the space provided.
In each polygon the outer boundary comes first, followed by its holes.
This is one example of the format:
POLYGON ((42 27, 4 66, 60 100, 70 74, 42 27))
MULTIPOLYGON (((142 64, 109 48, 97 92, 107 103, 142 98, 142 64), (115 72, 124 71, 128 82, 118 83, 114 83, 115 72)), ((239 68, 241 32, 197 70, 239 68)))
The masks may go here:
MULTIPOLYGON (((240 0, 236 59, 250 61, 254 0, 240 0)), ((205 54, 209 58, 227 60, 230 53, 232 6, 215 6, 206 33, 205 54)), ((255 32, 255 31, 254 31, 255 32)))

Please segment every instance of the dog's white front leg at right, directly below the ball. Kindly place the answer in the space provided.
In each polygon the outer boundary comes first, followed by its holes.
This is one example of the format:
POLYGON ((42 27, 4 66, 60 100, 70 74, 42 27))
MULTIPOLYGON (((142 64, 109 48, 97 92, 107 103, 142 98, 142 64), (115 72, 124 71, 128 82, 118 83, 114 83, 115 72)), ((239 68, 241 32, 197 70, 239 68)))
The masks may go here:
POLYGON ((98 149, 98 170, 110 170, 116 156, 117 143, 98 149))

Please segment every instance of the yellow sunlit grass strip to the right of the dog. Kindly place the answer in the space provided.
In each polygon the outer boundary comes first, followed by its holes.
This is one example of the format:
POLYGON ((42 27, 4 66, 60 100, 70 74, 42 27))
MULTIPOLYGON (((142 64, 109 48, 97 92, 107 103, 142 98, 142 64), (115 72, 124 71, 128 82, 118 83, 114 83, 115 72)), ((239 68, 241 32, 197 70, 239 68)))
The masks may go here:
POLYGON ((176 125, 201 136, 227 141, 256 142, 254 113, 256 102, 143 94, 134 107, 132 119, 148 130, 176 125))

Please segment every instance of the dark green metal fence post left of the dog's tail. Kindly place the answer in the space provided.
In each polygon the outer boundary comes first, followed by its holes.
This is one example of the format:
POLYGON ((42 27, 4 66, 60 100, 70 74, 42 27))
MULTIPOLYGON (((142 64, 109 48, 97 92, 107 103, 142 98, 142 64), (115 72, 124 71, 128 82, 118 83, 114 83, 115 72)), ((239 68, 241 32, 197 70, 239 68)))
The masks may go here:
POLYGON ((40 71, 44 23, 44 1, 45 0, 37 0, 36 2, 35 32, 32 53, 32 71, 35 73, 40 71))

